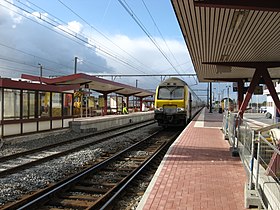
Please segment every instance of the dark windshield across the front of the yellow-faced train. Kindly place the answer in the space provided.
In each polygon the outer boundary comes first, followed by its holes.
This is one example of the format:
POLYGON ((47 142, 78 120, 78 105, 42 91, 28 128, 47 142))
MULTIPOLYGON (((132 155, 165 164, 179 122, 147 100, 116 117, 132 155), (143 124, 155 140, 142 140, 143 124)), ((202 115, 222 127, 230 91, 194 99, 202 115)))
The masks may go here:
POLYGON ((184 98, 184 87, 160 87, 158 99, 180 100, 184 98))

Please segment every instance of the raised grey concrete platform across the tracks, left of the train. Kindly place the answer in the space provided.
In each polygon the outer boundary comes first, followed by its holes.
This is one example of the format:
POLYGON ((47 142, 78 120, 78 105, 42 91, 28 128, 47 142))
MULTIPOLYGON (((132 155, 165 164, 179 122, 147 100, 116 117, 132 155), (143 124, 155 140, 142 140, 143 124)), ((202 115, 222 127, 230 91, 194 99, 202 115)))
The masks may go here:
POLYGON ((123 125, 138 123, 154 119, 154 111, 132 112, 125 115, 105 115, 95 117, 75 118, 69 122, 70 129, 77 133, 101 131, 117 128, 123 125))

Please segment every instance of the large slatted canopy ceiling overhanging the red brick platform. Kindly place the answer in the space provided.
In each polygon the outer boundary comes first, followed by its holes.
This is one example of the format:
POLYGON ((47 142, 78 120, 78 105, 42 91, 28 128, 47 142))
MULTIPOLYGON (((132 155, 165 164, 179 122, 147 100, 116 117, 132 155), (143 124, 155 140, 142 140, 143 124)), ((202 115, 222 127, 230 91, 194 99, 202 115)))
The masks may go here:
POLYGON ((280 78, 279 0, 171 0, 198 79, 280 78))

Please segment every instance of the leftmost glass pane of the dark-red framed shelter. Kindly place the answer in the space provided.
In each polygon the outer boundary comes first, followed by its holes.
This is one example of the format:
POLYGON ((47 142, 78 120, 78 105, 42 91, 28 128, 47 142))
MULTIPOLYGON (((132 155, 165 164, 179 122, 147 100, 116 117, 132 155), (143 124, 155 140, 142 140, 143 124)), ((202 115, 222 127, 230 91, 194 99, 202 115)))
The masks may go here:
POLYGON ((20 118, 20 90, 4 89, 4 119, 20 118))

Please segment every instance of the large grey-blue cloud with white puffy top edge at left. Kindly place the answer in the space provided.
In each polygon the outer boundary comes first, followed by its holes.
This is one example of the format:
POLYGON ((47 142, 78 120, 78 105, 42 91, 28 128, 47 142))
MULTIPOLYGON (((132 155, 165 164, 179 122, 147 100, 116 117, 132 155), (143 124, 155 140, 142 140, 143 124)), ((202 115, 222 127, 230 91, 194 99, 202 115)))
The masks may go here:
POLYGON ((10 10, 0 6, 1 74, 7 77, 20 77, 22 73, 38 75, 38 63, 44 67, 44 76, 71 74, 76 56, 91 63, 80 63, 80 71, 114 72, 93 47, 85 46, 83 41, 86 40, 74 38, 84 30, 81 23, 71 21, 66 25, 50 26, 44 22, 48 18, 46 13, 34 12, 25 18, 15 13, 9 4, 6 6, 10 10))

